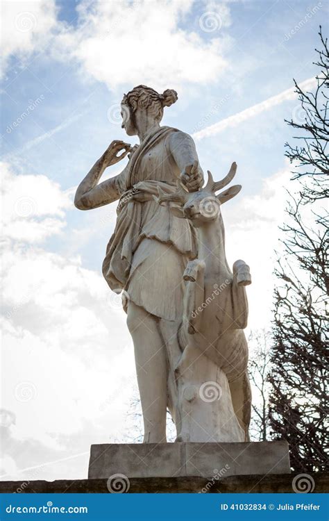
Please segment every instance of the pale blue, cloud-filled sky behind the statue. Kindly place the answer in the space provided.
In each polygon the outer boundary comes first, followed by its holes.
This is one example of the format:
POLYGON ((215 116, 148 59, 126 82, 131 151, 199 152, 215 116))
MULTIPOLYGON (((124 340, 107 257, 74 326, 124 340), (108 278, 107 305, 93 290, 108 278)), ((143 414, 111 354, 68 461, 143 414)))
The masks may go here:
POLYGON ((83 477, 90 443, 129 438, 133 390, 120 381, 122 367, 134 379, 133 352, 101 278, 115 205, 83 213, 72 204, 108 144, 127 140, 117 117, 122 94, 139 83, 176 89, 163 124, 198 132, 201 166, 215 179, 237 161, 242 192, 223 209, 228 260, 251 265, 249 326, 268 327, 273 250, 291 186, 284 119, 302 117, 287 90, 292 78, 314 87, 328 2, 26 0, 4 1, 2 11, 3 407, 16 418, 5 426, 3 476, 61 460, 38 475, 83 477), (17 399, 24 382, 31 399, 17 399), (83 456, 67 461, 72 451, 83 456))

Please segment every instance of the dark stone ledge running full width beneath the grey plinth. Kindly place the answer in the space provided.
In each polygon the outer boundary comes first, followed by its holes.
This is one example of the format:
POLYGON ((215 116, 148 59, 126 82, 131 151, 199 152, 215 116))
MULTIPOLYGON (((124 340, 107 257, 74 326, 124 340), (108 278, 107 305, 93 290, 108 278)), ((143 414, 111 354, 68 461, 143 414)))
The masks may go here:
MULTIPOLYGON (((329 492, 328 474, 309 474, 314 481, 313 493, 329 492)), ((138 493, 294 493, 294 474, 269 474, 267 476, 230 476, 222 479, 201 477, 179 478, 131 478, 129 494, 138 493)), ((0 481, 0 493, 81 493, 108 494, 107 479, 59 479, 56 481, 0 481)), ((310 498, 312 499, 312 497, 310 498)), ((312 501, 310 501, 312 502, 312 501)))

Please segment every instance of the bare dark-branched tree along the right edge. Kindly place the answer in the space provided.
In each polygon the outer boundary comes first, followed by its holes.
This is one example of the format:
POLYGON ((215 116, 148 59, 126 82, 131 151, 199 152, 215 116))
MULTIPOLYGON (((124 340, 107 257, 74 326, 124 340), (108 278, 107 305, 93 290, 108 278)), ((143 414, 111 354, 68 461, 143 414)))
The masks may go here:
POLYGON ((272 436, 288 440, 296 472, 328 470, 328 212, 321 200, 329 195, 329 55, 321 27, 319 35, 317 90, 303 92, 295 82, 305 122, 287 122, 303 144, 286 144, 286 156, 299 169, 292 177, 298 191, 288 192, 281 227, 268 377, 272 436))

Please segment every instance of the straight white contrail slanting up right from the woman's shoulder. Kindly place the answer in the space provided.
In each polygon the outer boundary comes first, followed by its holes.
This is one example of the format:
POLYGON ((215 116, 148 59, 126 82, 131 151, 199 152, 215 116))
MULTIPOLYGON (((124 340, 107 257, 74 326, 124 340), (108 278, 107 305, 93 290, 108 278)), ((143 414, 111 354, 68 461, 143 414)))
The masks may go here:
MULTIPOLYGON (((316 78, 308 78, 305 81, 302 81, 299 86, 301 89, 312 90, 317 85, 316 78)), ((295 88, 292 87, 290 89, 284 90, 280 92, 280 94, 276 94, 276 96, 272 96, 271 98, 265 99, 260 103, 253 105, 252 107, 246 108, 233 116, 226 117, 225 119, 221 119, 218 123, 214 123, 210 126, 207 126, 205 129, 202 129, 199 132, 192 134, 195 140, 201 140, 203 138, 208 138, 211 135, 216 135, 219 132, 230 128, 234 128, 238 126, 244 121, 251 119, 251 117, 255 117, 258 114, 261 114, 265 110, 270 110, 276 105, 281 104, 283 101, 287 101, 289 99, 297 98, 297 94, 295 92, 295 88)))

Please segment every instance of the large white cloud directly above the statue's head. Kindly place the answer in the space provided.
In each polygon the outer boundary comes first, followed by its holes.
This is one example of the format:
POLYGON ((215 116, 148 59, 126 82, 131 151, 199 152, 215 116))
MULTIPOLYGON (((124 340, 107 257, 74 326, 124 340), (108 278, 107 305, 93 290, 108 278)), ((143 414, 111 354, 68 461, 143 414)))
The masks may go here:
MULTIPOLYGON (((192 0, 83 2, 78 6, 79 26, 58 37, 60 58, 74 58, 86 72, 110 88, 149 83, 154 88, 182 83, 209 83, 226 68, 222 33, 205 40, 199 24, 195 31, 180 27, 192 12, 192 0), (197 74, 195 74, 197 71, 197 74)), ((202 12, 201 12, 202 13, 202 12)), ((228 25, 228 8, 221 9, 228 25)))

